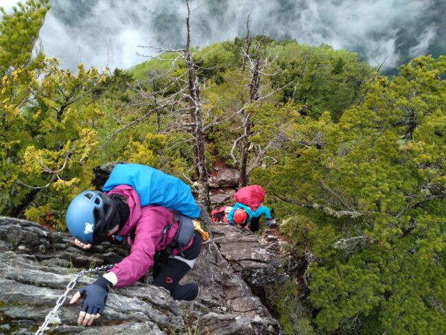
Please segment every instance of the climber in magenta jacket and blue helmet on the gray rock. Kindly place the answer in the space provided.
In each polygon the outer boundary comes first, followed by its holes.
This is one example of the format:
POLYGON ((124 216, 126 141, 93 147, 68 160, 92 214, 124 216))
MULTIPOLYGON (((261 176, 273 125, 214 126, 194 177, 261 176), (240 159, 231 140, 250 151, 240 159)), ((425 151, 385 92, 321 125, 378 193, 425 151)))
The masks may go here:
MULTIPOLYGON (((138 171, 145 175, 153 172, 156 178, 164 177, 158 174, 158 170, 148 170, 144 165, 128 164, 118 170, 121 176, 138 171)), ((183 192, 183 182, 179 179, 175 182, 179 185, 176 189, 183 192)), ((169 290, 174 299, 193 300, 198 296, 200 289, 197 284, 180 285, 179 281, 193 268, 200 254, 200 233, 193 231, 193 226, 186 234, 183 233, 183 228, 178 229, 180 220, 183 227, 186 227, 184 222, 191 220, 186 216, 174 214, 172 210, 156 204, 141 207, 137 189, 130 185, 117 185, 108 192, 85 191, 73 199, 67 210, 67 227, 80 248, 90 249, 92 244, 99 244, 110 235, 124 238, 131 246, 130 255, 93 284, 84 286, 74 294, 70 303, 84 297, 78 317, 78 323, 82 325, 91 325, 99 318, 105 308, 110 288, 134 284, 152 265, 153 284, 169 290), (185 242, 174 244, 178 238, 185 242)), ((186 198, 193 201, 191 194, 190 198, 189 195, 186 198)), ((162 203, 163 200, 159 202, 162 203)), ((196 203, 191 203, 188 209, 193 209, 193 205, 196 206, 196 203)), ((194 213, 199 215, 200 209, 196 208, 198 212, 194 213)))

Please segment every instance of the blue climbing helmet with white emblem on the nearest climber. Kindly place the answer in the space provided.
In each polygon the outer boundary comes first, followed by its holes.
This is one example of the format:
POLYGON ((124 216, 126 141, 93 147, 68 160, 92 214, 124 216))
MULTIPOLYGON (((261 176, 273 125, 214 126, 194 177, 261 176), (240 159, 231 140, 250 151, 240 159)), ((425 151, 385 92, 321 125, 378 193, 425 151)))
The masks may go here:
POLYGON ((110 196, 99 191, 84 191, 67 210, 67 228, 83 243, 99 244, 116 227, 117 207, 110 196))

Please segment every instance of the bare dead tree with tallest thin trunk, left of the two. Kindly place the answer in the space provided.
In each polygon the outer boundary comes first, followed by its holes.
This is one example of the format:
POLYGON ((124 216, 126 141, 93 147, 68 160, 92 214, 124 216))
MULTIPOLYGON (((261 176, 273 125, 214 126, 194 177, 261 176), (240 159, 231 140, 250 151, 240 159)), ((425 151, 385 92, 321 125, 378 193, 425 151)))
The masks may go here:
MULTIPOLYGON (((164 53, 175 53, 177 56, 170 59, 170 68, 162 74, 152 73, 149 80, 138 83, 133 87, 143 98, 142 102, 133 104, 134 107, 145 107, 144 114, 134 121, 126 124, 113 132, 108 141, 113 140, 119 132, 122 132, 131 126, 143 122, 143 120, 156 114, 157 132, 161 130, 161 113, 164 111, 169 114, 171 122, 167 126, 168 131, 185 132, 190 136, 192 143, 192 161, 193 169, 196 174, 196 192, 198 202, 209 212, 211 211, 211 200, 209 198, 209 181, 207 171, 207 160, 205 156, 205 120, 202 113, 202 103, 200 96, 200 84, 198 82, 197 66, 193 62, 193 55, 190 50, 190 14, 191 9, 189 0, 187 5, 187 42, 183 49, 165 49, 163 47, 149 47, 157 49, 164 53), (179 76, 172 76, 178 60, 185 61, 186 71, 179 76), (163 82, 162 87, 160 82, 163 82), (148 88, 150 87, 150 89, 148 88)), ((142 55, 143 56, 143 55, 142 55)), ((167 60, 166 58, 162 58, 167 60)), ((208 122, 209 126, 215 122, 222 122, 220 119, 214 119, 208 122)))

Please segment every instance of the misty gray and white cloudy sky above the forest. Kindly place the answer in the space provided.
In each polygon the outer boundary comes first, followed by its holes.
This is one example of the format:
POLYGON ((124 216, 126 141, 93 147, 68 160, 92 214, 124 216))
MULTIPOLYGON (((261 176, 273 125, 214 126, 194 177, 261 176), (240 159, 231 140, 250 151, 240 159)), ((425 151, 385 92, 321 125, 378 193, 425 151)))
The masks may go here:
MULTIPOLYGON (((16 0, 0 0, 11 10, 16 0)), ((185 41, 184 0, 51 0, 40 32, 45 54, 75 69, 80 61, 101 69, 143 62, 139 45, 176 45, 185 41)), ((327 43, 357 51, 372 65, 387 55, 387 67, 401 58, 425 54, 444 27, 445 0, 194 0, 192 45, 230 40, 246 34, 327 43), (438 8, 440 4, 441 8, 438 8), (440 11, 440 16, 435 16, 440 11), (444 12, 443 12, 444 14, 444 12), (436 19, 436 17, 440 19, 436 19), (403 51, 401 51, 403 50, 403 51)), ((153 52, 153 51, 152 51, 153 52)), ((405 60, 406 61, 406 60, 405 60)))

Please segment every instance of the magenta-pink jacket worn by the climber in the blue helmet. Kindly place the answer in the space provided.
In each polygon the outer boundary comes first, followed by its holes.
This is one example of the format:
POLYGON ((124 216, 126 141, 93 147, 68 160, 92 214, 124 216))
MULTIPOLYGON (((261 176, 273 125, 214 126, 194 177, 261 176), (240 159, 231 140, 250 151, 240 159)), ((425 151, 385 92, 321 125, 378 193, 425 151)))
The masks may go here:
MULTIPOLYGON (((117 233, 118 236, 126 237, 127 243, 131 246, 130 255, 110 270, 118 279, 117 287, 128 286, 141 278, 153 265, 155 253, 164 250, 172 242, 178 224, 175 222, 167 232, 167 236, 161 241, 164 227, 172 221, 172 211, 155 205, 141 207, 137 192, 128 185, 119 185, 108 194, 125 196, 130 209, 126 224, 117 233), (133 232, 134 242, 130 238, 133 232)), ((187 246, 183 247, 183 250, 188 249, 192 242, 193 238, 187 246)), ((178 251, 175 250, 173 254, 176 253, 178 251)))

